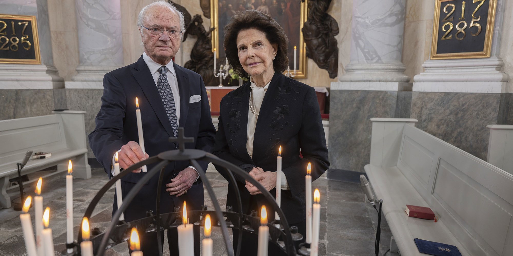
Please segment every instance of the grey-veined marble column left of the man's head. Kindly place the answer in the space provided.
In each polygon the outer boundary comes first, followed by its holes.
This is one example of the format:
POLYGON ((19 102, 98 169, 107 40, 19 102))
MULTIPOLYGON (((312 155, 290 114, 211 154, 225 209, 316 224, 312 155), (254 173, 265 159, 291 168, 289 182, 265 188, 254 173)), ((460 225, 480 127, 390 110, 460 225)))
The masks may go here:
POLYGON ((103 89, 103 76, 123 66, 120 0, 76 0, 77 74, 67 89, 103 89))

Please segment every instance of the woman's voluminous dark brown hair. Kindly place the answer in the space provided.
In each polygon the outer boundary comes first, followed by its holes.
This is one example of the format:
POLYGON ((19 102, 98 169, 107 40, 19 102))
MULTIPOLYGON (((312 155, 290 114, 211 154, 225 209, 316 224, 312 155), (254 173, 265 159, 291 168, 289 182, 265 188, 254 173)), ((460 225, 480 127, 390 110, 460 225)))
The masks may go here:
POLYGON ((257 29, 265 34, 271 44, 278 46, 276 56, 272 61, 275 72, 283 73, 289 64, 287 57, 288 38, 283 28, 271 16, 257 10, 237 12, 231 17, 230 22, 224 27, 224 50, 228 62, 233 71, 241 77, 249 78, 248 73, 239 62, 237 49, 237 36, 246 29, 257 29))

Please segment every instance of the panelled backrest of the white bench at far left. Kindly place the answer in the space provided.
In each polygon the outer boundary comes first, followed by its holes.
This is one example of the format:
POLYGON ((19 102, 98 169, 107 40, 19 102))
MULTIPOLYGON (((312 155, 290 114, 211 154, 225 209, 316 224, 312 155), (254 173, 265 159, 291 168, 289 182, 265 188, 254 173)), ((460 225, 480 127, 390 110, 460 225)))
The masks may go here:
POLYGON ((66 148, 66 136, 60 115, 18 118, 0 121, 0 172, 16 168, 32 150, 54 152, 66 148))

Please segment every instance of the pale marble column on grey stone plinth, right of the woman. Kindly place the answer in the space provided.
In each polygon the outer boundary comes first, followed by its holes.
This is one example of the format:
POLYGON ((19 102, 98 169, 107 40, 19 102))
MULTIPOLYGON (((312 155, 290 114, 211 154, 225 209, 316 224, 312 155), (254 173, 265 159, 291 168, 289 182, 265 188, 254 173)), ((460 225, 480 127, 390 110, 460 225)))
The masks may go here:
POLYGON ((364 172, 372 117, 409 117, 411 83, 401 62, 406 0, 353 2, 350 62, 331 82, 332 169, 364 172))

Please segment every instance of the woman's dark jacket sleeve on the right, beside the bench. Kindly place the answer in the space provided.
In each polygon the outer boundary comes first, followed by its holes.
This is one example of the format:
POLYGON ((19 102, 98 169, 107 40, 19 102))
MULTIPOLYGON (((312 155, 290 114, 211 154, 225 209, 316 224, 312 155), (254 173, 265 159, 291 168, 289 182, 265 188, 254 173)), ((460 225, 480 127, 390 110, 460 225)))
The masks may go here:
POLYGON ((305 191, 305 175, 308 162, 312 164, 312 181, 319 178, 329 168, 328 148, 321 119, 321 111, 315 89, 310 87, 303 100, 299 143, 303 159, 283 169, 293 196, 305 191))

